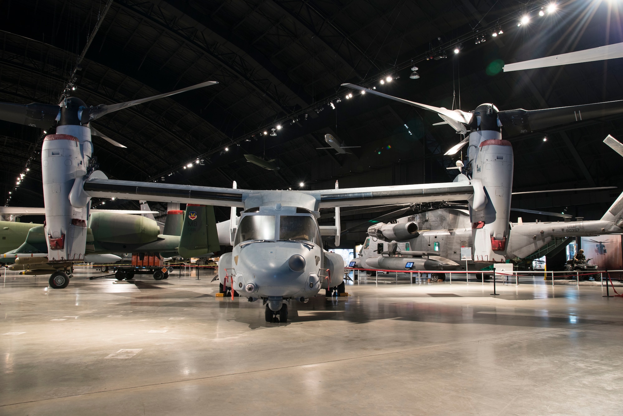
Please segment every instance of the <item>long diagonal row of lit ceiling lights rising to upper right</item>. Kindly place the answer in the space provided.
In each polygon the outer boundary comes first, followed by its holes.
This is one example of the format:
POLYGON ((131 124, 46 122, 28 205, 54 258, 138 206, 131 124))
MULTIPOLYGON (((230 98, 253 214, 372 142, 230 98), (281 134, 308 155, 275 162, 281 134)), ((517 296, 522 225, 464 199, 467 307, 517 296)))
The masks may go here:
MULTIPOLYGON (((542 7, 545 7, 546 12, 551 13, 556 10, 557 6, 555 3, 551 3, 549 4, 549 6, 543 6, 543 3, 541 3, 538 6, 533 6, 533 7, 526 9, 525 14, 538 13, 538 11, 540 11, 542 7)), ((503 34, 504 31, 502 31, 502 27, 511 24, 511 22, 516 22, 516 19, 517 19, 516 12, 508 13, 505 16, 500 17, 500 19, 495 24, 492 24, 491 26, 483 27, 482 30, 477 30, 475 32, 470 31, 463 35, 460 35, 452 39, 451 41, 445 42, 445 44, 442 44, 439 47, 435 48, 434 51, 429 50, 427 52, 422 52, 421 54, 417 55, 416 57, 413 57, 412 59, 403 61, 401 64, 394 65, 394 67, 390 69, 391 72, 389 73, 386 72, 382 77, 379 77, 379 75, 375 75, 374 77, 368 78, 366 80, 361 80, 361 82, 359 82, 359 85, 364 85, 364 86, 373 85, 368 88, 376 90, 376 87, 379 84, 384 85, 388 82, 392 82, 392 80, 395 80, 396 78, 399 78, 399 76, 397 76, 396 73, 407 68, 411 68, 411 71, 412 71, 409 78, 418 79, 420 75, 417 72, 418 69, 416 65, 419 62, 422 62, 424 60, 431 60, 431 59, 432 60, 443 59, 447 57, 447 54, 445 54, 446 50, 451 50, 452 52, 454 52, 454 50, 457 49, 457 45, 465 44, 465 42, 468 42, 469 40, 478 39, 478 37, 481 37, 481 39, 482 37, 487 39, 487 34, 493 35, 493 32, 496 32, 497 35, 503 34)), ((299 110, 293 111, 292 113, 286 116, 283 116, 283 118, 280 118, 278 120, 273 120, 272 123, 275 123, 276 121, 280 121, 281 123, 289 122, 290 125, 293 125, 294 123, 297 123, 297 122, 307 121, 310 111, 315 110, 316 108, 318 109, 323 108, 325 105, 333 109, 333 107, 336 106, 337 103, 340 103, 341 98, 346 98, 347 100, 350 100, 351 98, 353 98, 353 93, 351 92, 346 93, 346 95, 344 94, 345 92, 340 92, 336 95, 330 95, 328 97, 325 97, 322 100, 315 102, 312 105, 307 106, 307 108, 301 108, 299 110), (331 106, 331 103, 333 103, 333 106, 331 106)), ((231 141, 232 143, 239 143, 242 141, 248 141, 250 139, 257 140, 262 136, 267 136, 269 135, 269 131, 272 131, 270 130, 272 128, 270 127, 270 124, 265 125, 264 127, 257 128, 257 130, 255 131, 251 131, 249 133, 240 135, 235 139, 231 139, 231 141)), ((217 147, 216 149, 211 149, 202 154, 199 154, 197 157, 206 158, 206 160, 209 161, 209 157, 211 156, 211 154, 224 153, 224 151, 226 151, 224 150, 226 148, 225 146, 226 145, 223 144, 217 147)), ((231 146, 231 144, 227 146, 231 146)), ((152 181, 153 179, 159 179, 162 175, 166 176, 167 174, 176 173, 179 171, 178 169, 183 168, 183 166, 184 165, 181 165, 174 169, 164 171, 163 173, 159 173, 158 175, 153 176, 147 180, 152 181)))

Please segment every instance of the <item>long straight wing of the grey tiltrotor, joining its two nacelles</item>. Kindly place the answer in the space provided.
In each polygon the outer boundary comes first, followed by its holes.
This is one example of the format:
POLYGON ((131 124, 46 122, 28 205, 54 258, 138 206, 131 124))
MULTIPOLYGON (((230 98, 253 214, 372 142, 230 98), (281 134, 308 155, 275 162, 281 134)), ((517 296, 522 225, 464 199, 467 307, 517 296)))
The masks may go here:
MULTIPOLYGON (((437 184, 373 186, 319 191, 252 191, 210 186, 163 184, 158 182, 115 181, 92 179, 84 191, 92 197, 140 199, 147 201, 181 202, 184 204, 244 207, 245 199, 254 204, 271 201, 294 201, 289 194, 307 194, 316 200, 316 209, 329 207, 400 204, 406 202, 465 201, 475 199, 474 209, 486 203, 482 183, 478 180, 437 184)), ((284 202, 287 203, 287 202, 284 202)), ((257 206, 257 205, 254 205, 257 206)))

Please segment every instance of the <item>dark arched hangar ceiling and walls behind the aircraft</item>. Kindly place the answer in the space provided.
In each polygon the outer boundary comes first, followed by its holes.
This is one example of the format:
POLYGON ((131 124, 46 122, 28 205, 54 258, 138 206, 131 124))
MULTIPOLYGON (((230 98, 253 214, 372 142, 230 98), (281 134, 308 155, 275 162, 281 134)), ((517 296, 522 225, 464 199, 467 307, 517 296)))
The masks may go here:
MULTIPOLYGON (((623 97, 621 59, 502 71, 512 62, 620 42, 620 22, 605 24, 606 2, 568 2, 543 17, 536 3, 508 0, 120 0, 105 11, 106 3, 2 2, 0 101, 57 103, 68 82, 75 87, 70 94, 88 105, 219 82, 93 122, 127 146, 94 140, 100 169, 115 179, 219 187, 237 181, 246 189, 323 189, 336 180, 340 187, 452 180, 457 171, 446 168, 460 153, 443 154, 459 135, 449 126, 434 126, 441 121, 434 113, 360 95, 340 87, 345 82, 464 111, 481 103, 535 110, 623 97), (530 24, 518 26, 521 14, 532 9, 530 24), (75 79, 68 79, 104 11, 75 79), (412 67, 419 78, 410 78, 412 67), (381 84, 387 77, 391 82, 381 84), (326 133, 361 148, 349 149, 351 154, 317 149, 326 147, 326 133), (275 159, 279 169, 248 163, 244 154, 275 159)), ((514 192, 618 188, 518 195, 513 207, 599 219, 623 186, 620 156, 602 140, 621 137, 622 131, 623 117, 616 115, 510 138, 514 192)), ((41 129, 0 121, 5 204, 42 205, 43 136, 41 129), (25 168, 15 186, 13 178, 25 168)), ((93 206, 103 202, 138 206, 97 200, 93 206)), ((152 205, 166 211, 166 204, 152 205)), ((366 221, 391 211, 349 215, 344 209, 343 229, 354 232, 342 244, 361 243, 366 221)), ((227 219, 229 211, 216 207, 216 215, 227 219)), ((518 216, 544 219, 512 212, 511 220, 518 216)))

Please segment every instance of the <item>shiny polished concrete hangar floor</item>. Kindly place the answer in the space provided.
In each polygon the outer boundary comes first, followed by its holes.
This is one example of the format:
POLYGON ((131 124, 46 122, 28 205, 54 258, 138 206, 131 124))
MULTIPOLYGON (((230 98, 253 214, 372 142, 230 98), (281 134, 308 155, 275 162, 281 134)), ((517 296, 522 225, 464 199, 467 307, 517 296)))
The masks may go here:
POLYGON ((212 275, 88 276, 0 277, 0 415, 623 414, 600 287, 353 285, 273 324, 212 275))

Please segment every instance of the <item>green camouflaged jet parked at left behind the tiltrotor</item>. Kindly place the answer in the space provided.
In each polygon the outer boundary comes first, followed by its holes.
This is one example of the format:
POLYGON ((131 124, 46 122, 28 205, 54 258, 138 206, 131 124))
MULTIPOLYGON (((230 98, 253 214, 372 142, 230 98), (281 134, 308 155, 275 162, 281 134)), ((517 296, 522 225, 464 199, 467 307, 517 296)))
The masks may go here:
MULTIPOLYGON (((0 207, 0 212, 4 210, 21 214, 24 211, 15 207, 10 210, 5 208, 0 207)), ((29 214, 39 214, 37 209, 27 210, 29 214)), ((115 263, 121 260, 120 253, 190 258, 207 257, 217 252, 220 246, 216 237, 214 208, 189 206, 186 210, 188 212, 169 210, 163 232, 156 220, 126 214, 144 214, 149 211, 90 210, 83 260, 89 263, 115 263), (197 229, 185 223, 183 218, 187 215, 201 218, 206 226, 197 229)), ((0 255, 0 263, 12 263, 8 266, 9 270, 21 271, 24 275, 45 275, 62 268, 71 276, 72 262, 50 262, 44 224, 0 221, 0 227, 0 248, 4 252, 0 255)), ((117 275, 119 280, 132 277, 125 272, 118 272, 117 275)), ((67 286, 69 280, 63 283, 67 286)))

